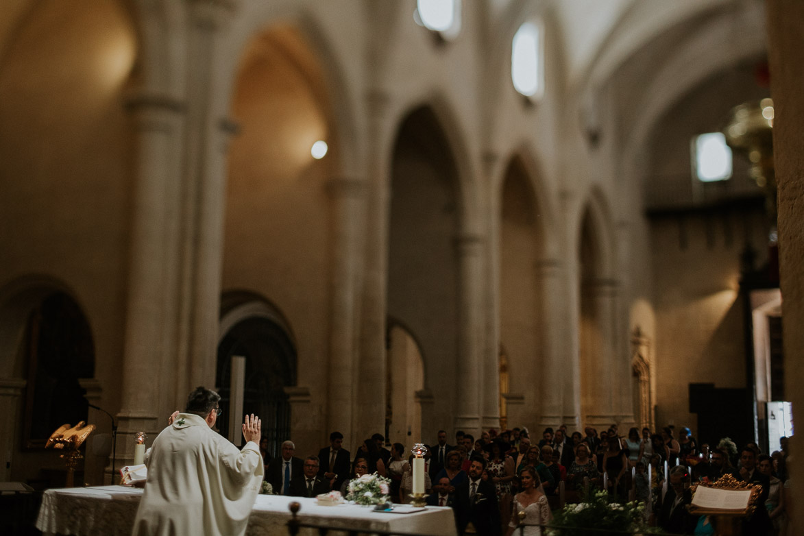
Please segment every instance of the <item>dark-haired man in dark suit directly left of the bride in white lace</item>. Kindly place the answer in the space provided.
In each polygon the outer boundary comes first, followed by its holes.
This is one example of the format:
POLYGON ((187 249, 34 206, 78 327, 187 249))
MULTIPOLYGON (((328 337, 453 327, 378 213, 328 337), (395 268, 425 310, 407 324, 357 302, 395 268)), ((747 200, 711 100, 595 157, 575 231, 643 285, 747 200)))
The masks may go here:
POLYGON ((499 536, 500 513, 497 507, 497 489, 490 481, 481 478, 486 459, 474 456, 469 466, 469 478, 455 489, 455 518, 458 534, 464 534, 471 523, 481 536, 499 536))

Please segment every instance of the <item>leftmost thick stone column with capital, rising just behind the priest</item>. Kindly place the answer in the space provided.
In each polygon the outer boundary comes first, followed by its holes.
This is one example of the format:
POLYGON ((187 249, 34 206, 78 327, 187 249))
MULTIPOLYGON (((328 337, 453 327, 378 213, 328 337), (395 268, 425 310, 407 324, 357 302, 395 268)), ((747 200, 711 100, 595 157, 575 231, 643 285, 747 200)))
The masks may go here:
POLYGON ((177 100, 141 92, 128 101, 137 136, 137 173, 134 178, 129 252, 128 299, 120 374, 121 410, 117 452, 120 460, 133 456, 133 433, 158 431, 154 395, 166 378, 154 378, 173 356, 162 348, 163 325, 173 321, 164 311, 166 248, 166 189, 175 180, 174 138, 181 129, 182 106, 177 100))

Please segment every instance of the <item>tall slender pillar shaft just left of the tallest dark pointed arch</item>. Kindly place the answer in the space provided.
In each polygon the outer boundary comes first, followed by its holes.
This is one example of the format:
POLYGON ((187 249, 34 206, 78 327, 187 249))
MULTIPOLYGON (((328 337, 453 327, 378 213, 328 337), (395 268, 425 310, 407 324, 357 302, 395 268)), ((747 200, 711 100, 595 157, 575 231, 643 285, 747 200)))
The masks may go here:
MULTIPOLYGON (((353 394, 351 444, 362 442, 367 432, 385 429, 386 317, 388 316, 388 218, 390 178, 384 152, 384 122, 388 114, 388 95, 371 92, 367 96, 367 191, 365 205, 365 248, 363 296, 360 301, 359 383, 353 394)), ((347 438, 348 439, 348 438, 347 438)), ((354 449, 353 449, 354 450, 354 449)))

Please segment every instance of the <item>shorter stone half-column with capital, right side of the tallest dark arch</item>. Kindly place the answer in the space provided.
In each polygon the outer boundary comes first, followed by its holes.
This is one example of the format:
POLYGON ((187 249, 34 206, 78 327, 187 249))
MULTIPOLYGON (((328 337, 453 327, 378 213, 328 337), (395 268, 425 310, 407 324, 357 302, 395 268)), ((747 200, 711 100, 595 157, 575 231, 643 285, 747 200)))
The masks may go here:
POLYGON ((482 245, 482 239, 478 235, 463 234, 455 239, 460 283, 454 426, 466 432, 472 431, 475 436, 481 427, 480 409, 484 387, 481 376, 480 315, 483 287, 482 245))

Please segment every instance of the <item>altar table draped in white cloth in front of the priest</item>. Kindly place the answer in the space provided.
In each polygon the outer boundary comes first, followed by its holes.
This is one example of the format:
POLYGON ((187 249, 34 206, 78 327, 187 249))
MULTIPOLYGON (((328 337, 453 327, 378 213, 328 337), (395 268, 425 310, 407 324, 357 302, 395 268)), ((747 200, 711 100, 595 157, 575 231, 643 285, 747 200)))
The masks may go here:
MULTIPOLYGON (((36 528, 44 534, 129 536, 141 497, 142 489, 119 485, 48 489, 42 497, 36 528)), ((299 520, 310 525, 431 536, 456 534, 450 508, 428 506, 423 512, 384 513, 359 505, 319 506, 315 499, 306 497, 258 495, 248 518, 246 535, 286 536, 287 522, 291 518, 288 505, 293 501, 301 504, 299 520)), ((299 534, 317 532, 303 529, 299 534)))

